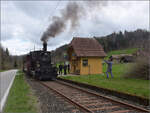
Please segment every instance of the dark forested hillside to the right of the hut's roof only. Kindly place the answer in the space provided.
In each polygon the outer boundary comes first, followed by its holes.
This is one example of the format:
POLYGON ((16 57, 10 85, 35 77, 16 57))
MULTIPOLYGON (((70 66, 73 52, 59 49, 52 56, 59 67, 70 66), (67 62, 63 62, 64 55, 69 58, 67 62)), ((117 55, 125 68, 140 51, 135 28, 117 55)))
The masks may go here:
POLYGON ((137 29, 136 31, 124 31, 112 33, 103 37, 94 37, 103 46, 105 52, 126 48, 146 48, 149 45, 150 32, 137 29))

